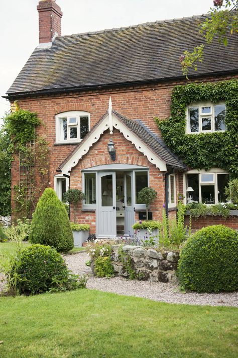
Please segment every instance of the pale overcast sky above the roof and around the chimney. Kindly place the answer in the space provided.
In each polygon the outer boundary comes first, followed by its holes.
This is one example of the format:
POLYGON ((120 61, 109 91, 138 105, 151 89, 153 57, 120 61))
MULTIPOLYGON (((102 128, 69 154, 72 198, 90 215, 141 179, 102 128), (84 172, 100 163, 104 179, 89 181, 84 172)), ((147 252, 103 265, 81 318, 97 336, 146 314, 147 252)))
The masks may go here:
MULTIPOLYGON (((2 98, 38 45, 39 0, 0 0, 0 125, 10 109, 2 98)), ((56 0, 62 35, 201 15, 212 0, 56 0)))

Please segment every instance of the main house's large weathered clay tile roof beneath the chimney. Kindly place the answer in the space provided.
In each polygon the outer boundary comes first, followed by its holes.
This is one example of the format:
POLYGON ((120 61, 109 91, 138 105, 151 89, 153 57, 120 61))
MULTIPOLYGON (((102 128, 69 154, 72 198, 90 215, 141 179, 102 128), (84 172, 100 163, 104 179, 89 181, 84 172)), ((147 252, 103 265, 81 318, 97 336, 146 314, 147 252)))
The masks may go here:
MULTIPOLYGON (((57 37, 36 48, 8 95, 165 81, 182 77, 179 57, 202 42, 198 25, 207 15, 157 21, 120 29, 57 37)), ((234 73, 238 36, 226 47, 213 41, 190 77, 234 73)))

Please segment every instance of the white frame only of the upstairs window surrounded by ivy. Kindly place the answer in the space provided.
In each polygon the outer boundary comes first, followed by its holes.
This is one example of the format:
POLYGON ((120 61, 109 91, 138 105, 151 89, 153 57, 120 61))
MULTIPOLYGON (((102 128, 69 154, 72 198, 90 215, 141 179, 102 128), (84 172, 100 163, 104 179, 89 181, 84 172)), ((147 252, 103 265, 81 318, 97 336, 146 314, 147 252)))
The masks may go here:
POLYGON ((199 102, 192 103, 186 109, 186 134, 199 134, 199 133, 211 133, 211 132, 224 132, 225 130, 215 130, 215 106, 225 105, 225 102, 211 103, 211 102, 199 102), (191 132, 189 109, 192 107, 198 107, 198 132, 191 132), (202 113, 202 107, 211 107, 210 113, 202 113), (211 118, 211 129, 202 130, 202 118, 211 118))

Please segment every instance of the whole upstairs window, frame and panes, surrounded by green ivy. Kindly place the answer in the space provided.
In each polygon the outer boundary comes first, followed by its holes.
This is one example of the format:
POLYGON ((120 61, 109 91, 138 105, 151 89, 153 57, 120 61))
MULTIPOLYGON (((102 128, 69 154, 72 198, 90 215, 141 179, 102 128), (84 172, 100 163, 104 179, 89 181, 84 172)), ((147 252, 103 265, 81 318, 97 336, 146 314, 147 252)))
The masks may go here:
POLYGON ((187 109, 187 133, 225 130, 225 104, 199 104, 187 109))

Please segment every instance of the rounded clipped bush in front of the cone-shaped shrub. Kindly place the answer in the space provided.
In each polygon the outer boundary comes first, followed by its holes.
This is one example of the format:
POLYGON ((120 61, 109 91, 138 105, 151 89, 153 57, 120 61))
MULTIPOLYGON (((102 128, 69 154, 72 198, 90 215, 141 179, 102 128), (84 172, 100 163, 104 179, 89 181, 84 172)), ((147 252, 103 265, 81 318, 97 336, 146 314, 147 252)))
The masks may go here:
POLYGON ((20 294, 46 292, 57 281, 68 278, 68 268, 60 253, 50 246, 40 244, 24 249, 14 269, 20 294))

